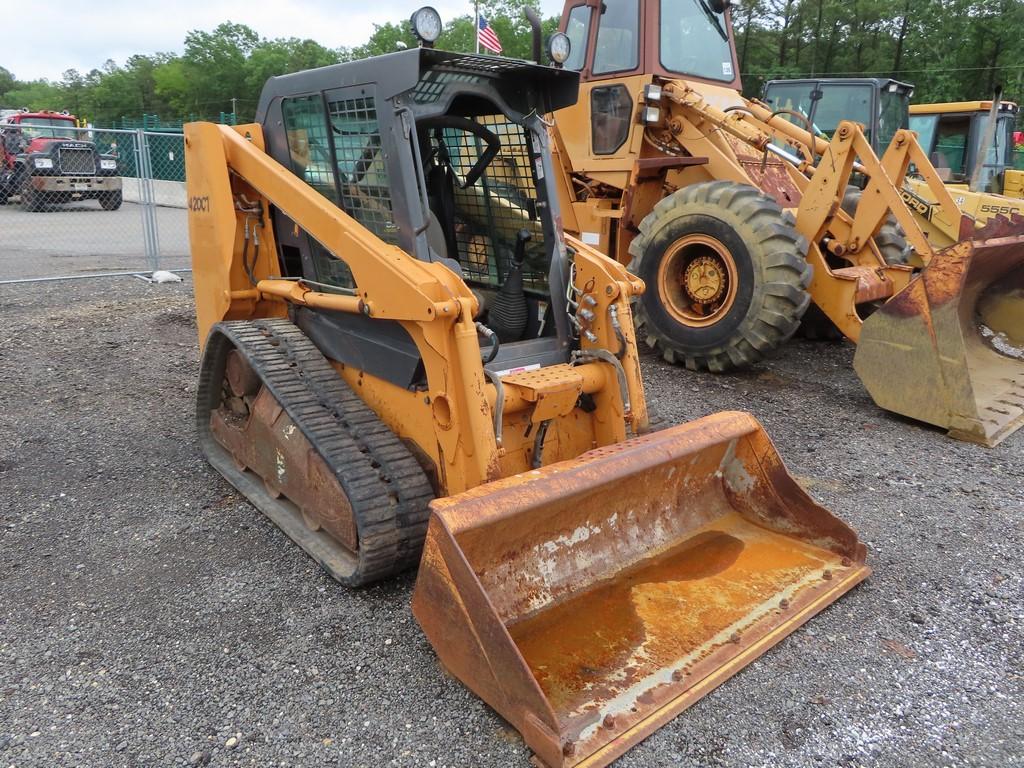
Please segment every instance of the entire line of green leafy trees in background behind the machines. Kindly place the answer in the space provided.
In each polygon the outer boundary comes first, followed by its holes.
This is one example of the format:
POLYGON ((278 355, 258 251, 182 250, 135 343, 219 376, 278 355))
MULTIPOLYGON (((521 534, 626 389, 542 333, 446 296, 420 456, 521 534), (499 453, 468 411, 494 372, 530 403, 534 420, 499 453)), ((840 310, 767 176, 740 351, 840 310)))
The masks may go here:
MULTIPOLYGON (((525 6, 539 9, 540 2, 480 2, 505 55, 529 55, 525 6)), ((1004 97, 1024 99, 1024 0, 741 0, 732 19, 748 95, 770 78, 871 76, 913 83, 916 101, 986 98, 998 86, 1004 97)), ((546 34, 557 25, 546 19, 546 34)), ((437 45, 471 51, 474 40, 467 14, 446 22, 437 45)), ((0 105, 68 110, 96 125, 142 114, 196 119, 232 111, 248 121, 272 75, 415 45, 404 19, 376 26, 351 48, 266 39, 225 22, 189 32, 181 53, 108 60, 87 73, 68 70, 58 81, 22 81, 0 67, 0 105)))

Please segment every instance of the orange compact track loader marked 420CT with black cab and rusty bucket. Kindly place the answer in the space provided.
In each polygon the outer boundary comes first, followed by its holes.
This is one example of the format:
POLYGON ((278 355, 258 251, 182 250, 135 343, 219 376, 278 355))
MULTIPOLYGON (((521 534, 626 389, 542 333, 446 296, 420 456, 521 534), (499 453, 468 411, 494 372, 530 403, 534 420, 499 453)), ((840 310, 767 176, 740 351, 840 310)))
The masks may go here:
POLYGON ((644 434, 643 284, 562 231, 544 115, 578 89, 420 47, 185 127, 203 452, 343 584, 419 563, 441 663, 550 768, 609 764, 869 572, 751 416, 644 434))

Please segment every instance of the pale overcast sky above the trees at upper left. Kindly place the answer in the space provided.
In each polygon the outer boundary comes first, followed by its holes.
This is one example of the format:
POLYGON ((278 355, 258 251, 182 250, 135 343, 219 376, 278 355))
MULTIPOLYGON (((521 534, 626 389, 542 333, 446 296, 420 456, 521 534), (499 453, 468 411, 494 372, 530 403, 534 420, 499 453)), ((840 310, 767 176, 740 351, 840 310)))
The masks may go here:
MULTIPOLYGON (((427 4, 437 8, 445 20, 473 10, 468 0, 60 3, 42 11, 37 19, 40 24, 23 24, 17 34, 4 36, 0 67, 19 80, 58 80, 65 70, 88 72, 108 58, 120 65, 133 53, 180 52, 186 32, 211 30, 227 20, 246 24, 267 38, 312 38, 329 48, 358 45, 370 37, 374 24, 408 18, 427 4)), ((12 8, 15 5, 11 3, 12 8)), ((19 7, 30 6, 23 3, 19 7)), ((562 0, 541 0, 541 8, 545 16, 555 15, 561 12, 562 0)))

